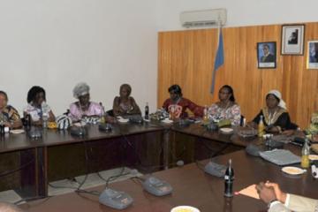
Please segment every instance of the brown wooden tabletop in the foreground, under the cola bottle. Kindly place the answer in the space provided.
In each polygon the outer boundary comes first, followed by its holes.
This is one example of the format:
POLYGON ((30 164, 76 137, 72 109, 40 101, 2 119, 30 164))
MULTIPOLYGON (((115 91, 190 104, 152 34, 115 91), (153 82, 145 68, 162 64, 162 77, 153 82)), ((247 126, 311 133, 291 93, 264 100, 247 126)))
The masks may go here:
MULTIPOLYGON (((236 192, 247 186, 270 180, 278 183, 285 192, 311 198, 318 197, 318 189, 316 189, 318 181, 312 178, 310 171, 300 176, 288 176, 282 172, 282 167, 264 161, 261 157, 247 155, 244 150, 216 156, 213 160, 216 163, 226 164, 230 158, 235 173, 233 189, 236 192)), ((180 205, 193 206, 199 208, 201 212, 267 210, 267 205, 262 201, 242 194, 225 198, 223 178, 205 173, 202 167, 206 163, 208 160, 153 173, 153 176, 169 182, 173 187, 172 193, 163 197, 156 197, 144 191, 137 179, 116 182, 109 187, 129 193, 133 197, 133 205, 123 210, 127 212, 163 212, 180 205)), ((89 190, 102 192, 104 188, 105 186, 98 186, 89 190)), ((87 193, 67 193, 39 201, 30 201, 21 205, 20 208, 30 212, 117 211, 100 204, 97 195, 87 193)))

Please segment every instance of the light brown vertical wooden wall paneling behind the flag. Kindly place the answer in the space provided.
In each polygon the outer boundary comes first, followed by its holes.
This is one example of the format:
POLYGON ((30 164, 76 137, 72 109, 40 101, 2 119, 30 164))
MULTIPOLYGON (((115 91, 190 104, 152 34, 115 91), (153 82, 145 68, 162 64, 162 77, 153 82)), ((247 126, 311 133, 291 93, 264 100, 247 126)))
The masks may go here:
POLYGON ((224 84, 234 88, 242 114, 251 120, 265 105, 270 89, 282 92, 292 121, 309 124, 318 110, 318 70, 306 69, 307 41, 318 40, 318 23, 307 23, 304 56, 282 56, 281 25, 223 28, 224 65, 216 72, 214 95, 209 93, 215 63, 217 29, 161 32, 158 39, 158 107, 179 84, 184 96, 205 105, 218 100, 224 84), (276 69, 257 68, 257 42, 276 42, 276 69))

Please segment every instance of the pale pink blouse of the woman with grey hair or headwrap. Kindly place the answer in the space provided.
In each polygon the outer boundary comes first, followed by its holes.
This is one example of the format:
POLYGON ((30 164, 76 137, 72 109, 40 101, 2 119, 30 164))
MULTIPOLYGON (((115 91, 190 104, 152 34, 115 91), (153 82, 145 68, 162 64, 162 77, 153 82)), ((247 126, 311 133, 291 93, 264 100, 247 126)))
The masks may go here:
POLYGON ((102 106, 96 102, 89 102, 88 109, 83 111, 79 106, 79 102, 73 102, 70 105, 70 114, 72 121, 79 121, 83 116, 91 117, 98 116, 102 117, 102 106))

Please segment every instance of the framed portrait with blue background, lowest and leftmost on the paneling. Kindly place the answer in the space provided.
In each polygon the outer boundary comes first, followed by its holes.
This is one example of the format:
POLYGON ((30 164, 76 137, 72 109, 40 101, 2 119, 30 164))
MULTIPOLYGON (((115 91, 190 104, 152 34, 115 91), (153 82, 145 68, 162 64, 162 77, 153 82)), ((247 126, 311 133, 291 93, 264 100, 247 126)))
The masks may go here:
POLYGON ((276 42, 257 43, 258 68, 276 68, 276 42))

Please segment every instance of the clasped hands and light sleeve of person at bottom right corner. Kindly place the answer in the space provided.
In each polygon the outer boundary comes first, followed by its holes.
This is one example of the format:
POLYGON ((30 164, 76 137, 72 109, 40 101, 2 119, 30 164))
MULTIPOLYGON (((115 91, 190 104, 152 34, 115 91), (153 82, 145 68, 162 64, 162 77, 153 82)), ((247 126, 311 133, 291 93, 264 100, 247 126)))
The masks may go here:
POLYGON ((261 182, 256 189, 261 200, 269 205, 269 212, 318 212, 318 200, 283 193, 275 183, 261 182))

